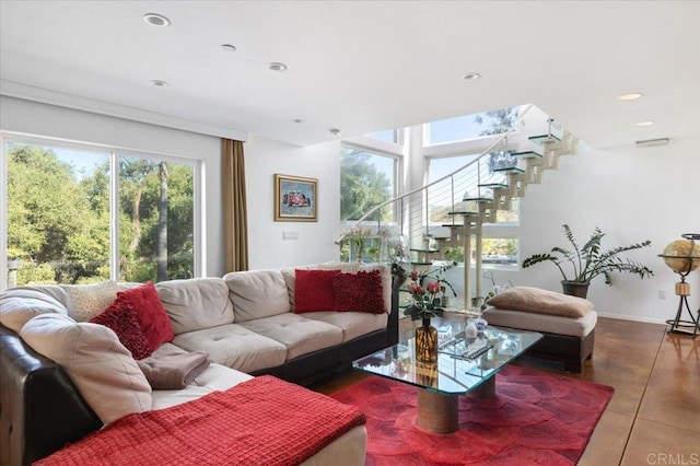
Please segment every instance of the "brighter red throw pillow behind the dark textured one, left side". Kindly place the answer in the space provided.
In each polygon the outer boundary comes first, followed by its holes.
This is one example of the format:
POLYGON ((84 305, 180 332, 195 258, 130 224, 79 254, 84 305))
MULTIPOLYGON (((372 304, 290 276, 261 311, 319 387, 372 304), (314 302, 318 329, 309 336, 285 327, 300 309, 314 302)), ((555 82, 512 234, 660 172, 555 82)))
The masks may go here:
MULTIPOLYGON (((130 290, 119 291, 117 293, 117 299, 114 300, 105 312, 110 311, 113 307, 116 310, 112 312, 118 312, 119 310, 122 312, 125 312, 124 310, 132 310, 136 314, 139 327, 145 336, 150 351, 142 358, 151 356, 161 345, 166 341, 171 341, 175 337, 173 334, 173 324, 165 313, 165 308, 163 307, 163 303, 161 303, 161 298, 159 296, 155 287, 150 281, 130 290)), ((113 328, 113 330, 115 329, 113 328)), ((117 336, 119 336, 119 341, 124 345, 119 333, 117 333, 117 336)), ((133 351, 131 352, 133 353, 133 351)), ((142 359, 137 358, 136 356, 133 358, 142 359)))

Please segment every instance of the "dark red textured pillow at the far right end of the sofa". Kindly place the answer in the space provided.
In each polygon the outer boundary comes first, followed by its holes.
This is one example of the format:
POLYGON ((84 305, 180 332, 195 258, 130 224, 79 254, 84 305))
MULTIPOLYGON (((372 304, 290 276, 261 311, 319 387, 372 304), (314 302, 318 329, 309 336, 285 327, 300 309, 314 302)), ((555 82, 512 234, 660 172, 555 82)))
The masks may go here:
POLYGON ((340 312, 384 313, 378 270, 340 273, 332 279, 334 307, 340 312))

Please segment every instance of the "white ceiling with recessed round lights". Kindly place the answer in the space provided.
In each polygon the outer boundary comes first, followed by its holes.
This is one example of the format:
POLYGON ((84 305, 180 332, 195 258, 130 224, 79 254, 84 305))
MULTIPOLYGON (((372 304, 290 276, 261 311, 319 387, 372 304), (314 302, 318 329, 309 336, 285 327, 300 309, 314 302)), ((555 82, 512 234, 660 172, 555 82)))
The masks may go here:
POLYGON ((1 0, 0 16, 2 94, 218 136, 306 145, 526 103, 594 148, 700 135, 699 1, 1 0))

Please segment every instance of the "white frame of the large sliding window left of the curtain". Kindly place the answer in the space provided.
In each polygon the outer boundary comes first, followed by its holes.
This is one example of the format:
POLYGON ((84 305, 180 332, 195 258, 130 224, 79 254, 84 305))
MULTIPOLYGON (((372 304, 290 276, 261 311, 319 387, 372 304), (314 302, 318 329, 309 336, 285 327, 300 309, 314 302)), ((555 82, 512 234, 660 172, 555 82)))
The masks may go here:
POLYGON ((192 236, 194 236, 194 277, 205 276, 206 270, 206 237, 205 231, 205 162, 195 158, 183 158, 164 152, 143 151, 110 144, 83 142, 61 138, 27 135, 12 131, 0 131, 0 291, 8 288, 8 143, 24 145, 40 145, 57 149, 72 149, 80 151, 95 151, 108 154, 109 158, 109 279, 119 280, 119 173, 120 158, 140 158, 145 160, 164 161, 168 163, 186 164, 192 167, 192 236))

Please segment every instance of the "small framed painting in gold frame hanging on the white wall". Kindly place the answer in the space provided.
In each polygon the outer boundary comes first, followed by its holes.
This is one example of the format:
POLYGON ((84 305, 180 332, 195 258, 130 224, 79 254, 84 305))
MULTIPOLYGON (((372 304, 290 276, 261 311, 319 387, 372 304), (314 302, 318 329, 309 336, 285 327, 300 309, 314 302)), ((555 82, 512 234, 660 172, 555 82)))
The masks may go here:
POLYGON ((315 222, 318 179, 275 175, 275 221, 315 222))

